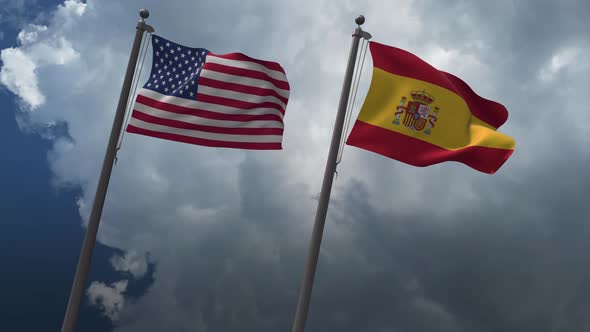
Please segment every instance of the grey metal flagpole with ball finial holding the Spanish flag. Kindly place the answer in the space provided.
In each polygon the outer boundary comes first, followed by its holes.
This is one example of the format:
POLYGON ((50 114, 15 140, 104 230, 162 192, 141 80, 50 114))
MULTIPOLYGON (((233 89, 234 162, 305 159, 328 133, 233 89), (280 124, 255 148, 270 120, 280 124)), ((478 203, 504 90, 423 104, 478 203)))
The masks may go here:
POLYGON ((320 254, 322 234, 324 232, 324 225, 326 223, 326 215, 328 213, 330 192, 332 191, 332 182, 334 180, 334 173, 336 172, 336 160, 338 157, 340 139, 342 138, 342 128, 344 125, 346 108, 348 106, 348 97, 350 95, 354 64, 356 61, 359 41, 361 37, 366 37, 368 35, 361 29, 361 25, 365 23, 365 17, 363 15, 358 16, 355 19, 355 23, 357 24, 357 27, 354 29, 352 34, 352 46, 350 47, 350 54, 348 56, 348 65, 344 75, 344 84, 342 85, 342 92, 340 94, 338 112, 336 113, 336 122, 334 123, 332 142, 330 144, 330 151, 328 153, 328 160, 326 162, 322 190, 320 192, 320 200, 318 202, 313 231, 311 233, 307 264, 305 267, 305 274, 303 276, 301 290, 299 292, 299 301, 297 303, 297 311, 295 313, 295 321, 293 323, 292 332, 303 332, 305 327, 305 321, 309 311, 309 302, 311 299, 311 290, 313 288, 313 280, 318 263, 318 256, 320 254))

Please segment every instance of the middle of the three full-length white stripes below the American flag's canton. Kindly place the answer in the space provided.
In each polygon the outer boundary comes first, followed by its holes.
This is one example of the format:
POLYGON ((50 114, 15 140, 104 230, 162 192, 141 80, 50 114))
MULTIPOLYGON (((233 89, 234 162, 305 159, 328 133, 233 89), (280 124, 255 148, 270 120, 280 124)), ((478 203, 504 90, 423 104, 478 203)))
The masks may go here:
POLYGON ((207 119, 190 114, 166 112, 141 103, 135 103, 133 109, 162 119, 182 121, 203 126, 222 128, 284 128, 283 124, 278 121, 226 121, 207 119))

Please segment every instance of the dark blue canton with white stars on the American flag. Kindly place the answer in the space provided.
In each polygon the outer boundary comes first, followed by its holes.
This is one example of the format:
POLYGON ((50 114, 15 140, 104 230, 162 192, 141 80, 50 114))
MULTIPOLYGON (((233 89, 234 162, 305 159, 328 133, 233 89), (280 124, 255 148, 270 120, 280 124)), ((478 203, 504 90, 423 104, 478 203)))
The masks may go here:
POLYGON ((143 86, 168 96, 195 100, 199 76, 208 50, 176 44, 152 36, 152 72, 143 86))

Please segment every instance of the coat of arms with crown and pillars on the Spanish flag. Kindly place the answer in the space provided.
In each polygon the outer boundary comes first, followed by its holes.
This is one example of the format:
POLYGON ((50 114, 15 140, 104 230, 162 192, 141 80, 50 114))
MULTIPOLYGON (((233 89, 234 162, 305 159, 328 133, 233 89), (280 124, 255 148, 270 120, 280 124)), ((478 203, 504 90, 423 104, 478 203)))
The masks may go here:
POLYGON ((412 91, 410 93, 412 101, 406 105, 406 97, 402 97, 399 106, 396 108, 395 119, 393 124, 401 125, 416 130, 424 130, 424 134, 430 135, 430 131, 434 128, 437 115, 440 109, 432 107, 430 104, 434 102, 434 97, 426 93, 426 91, 412 91), (400 117, 404 115, 400 122, 400 117), (426 128, 426 129, 424 129, 426 128))

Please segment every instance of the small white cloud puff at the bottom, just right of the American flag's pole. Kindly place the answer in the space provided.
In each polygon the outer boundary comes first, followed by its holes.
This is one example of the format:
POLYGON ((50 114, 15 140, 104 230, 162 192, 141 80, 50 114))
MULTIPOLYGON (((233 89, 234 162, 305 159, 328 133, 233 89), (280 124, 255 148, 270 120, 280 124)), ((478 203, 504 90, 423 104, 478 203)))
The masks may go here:
POLYGON ((114 282, 110 286, 95 281, 90 284, 86 294, 91 305, 97 306, 111 320, 116 320, 125 305, 123 293, 126 289, 127 280, 114 282))

